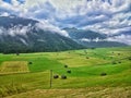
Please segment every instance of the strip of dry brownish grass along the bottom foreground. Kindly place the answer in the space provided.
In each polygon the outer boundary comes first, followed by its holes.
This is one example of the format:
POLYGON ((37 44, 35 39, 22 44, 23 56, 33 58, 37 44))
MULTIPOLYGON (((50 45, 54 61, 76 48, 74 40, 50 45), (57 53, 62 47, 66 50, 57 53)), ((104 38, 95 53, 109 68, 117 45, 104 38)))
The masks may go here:
POLYGON ((131 87, 36 89, 7 98, 131 98, 131 87))

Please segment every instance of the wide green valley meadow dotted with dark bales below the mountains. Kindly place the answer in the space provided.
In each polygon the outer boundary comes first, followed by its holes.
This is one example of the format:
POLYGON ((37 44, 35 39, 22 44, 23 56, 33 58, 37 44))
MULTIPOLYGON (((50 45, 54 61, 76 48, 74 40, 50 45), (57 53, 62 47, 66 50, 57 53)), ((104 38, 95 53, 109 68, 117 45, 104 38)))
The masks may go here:
POLYGON ((131 47, 0 54, 0 98, 102 96, 131 98, 131 47))

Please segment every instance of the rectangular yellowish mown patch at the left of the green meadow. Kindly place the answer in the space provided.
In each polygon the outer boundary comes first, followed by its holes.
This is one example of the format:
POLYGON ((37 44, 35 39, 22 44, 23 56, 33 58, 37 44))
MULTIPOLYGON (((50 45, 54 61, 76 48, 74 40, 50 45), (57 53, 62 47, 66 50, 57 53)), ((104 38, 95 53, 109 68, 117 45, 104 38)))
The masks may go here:
POLYGON ((29 72, 26 61, 5 61, 0 66, 0 74, 29 72))

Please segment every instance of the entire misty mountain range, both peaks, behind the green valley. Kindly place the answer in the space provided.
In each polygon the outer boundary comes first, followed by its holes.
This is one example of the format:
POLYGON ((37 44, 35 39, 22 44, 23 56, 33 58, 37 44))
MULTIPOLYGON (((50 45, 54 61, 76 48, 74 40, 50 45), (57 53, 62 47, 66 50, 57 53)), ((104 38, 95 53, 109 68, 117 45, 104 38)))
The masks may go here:
POLYGON ((0 16, 0 52, 38 52, 82 49, 87 47, 127 46, 103 41, 107 35, 78 28, 63 28, 69 37, 38 28, 38 21, 15 15, 0 16), (99 41, 100 40, 100 41, 99 41))

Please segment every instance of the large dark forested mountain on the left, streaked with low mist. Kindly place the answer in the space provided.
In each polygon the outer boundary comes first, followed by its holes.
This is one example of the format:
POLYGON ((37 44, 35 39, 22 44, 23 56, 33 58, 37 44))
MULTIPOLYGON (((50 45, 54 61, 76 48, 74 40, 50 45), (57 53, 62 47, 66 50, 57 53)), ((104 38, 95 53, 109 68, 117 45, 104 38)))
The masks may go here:
POLYGON ((37 27, 38 21, 0 16, 0 52, 60 51, 84 48, 56 32, 37 27))

